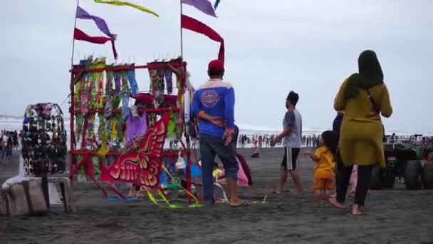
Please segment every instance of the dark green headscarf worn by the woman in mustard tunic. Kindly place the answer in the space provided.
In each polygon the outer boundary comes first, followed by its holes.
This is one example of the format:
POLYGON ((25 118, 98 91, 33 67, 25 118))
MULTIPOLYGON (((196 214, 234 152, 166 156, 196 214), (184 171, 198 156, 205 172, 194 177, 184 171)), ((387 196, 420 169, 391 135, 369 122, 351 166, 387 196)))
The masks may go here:
POLYGON ((358 96, 360 88, 369 89, 383 83, 382 68, 374 51, 367 50, 360 54, 358 70, 359 73, 354 73, 349 77, 345 91, 348 99, 358 96))

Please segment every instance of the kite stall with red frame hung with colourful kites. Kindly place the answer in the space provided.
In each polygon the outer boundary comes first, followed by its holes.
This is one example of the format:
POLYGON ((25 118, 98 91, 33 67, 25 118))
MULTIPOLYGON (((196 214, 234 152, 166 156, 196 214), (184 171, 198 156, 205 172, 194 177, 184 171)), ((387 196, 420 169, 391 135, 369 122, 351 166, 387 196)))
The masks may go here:
MULTIPOLYGON (((105 59, 91 57, 73 66, 71 181, 76 174, 88 176, 105 196, 108 193, 100 181, 134 183, 148 193, 150 189, 157 190, 165 198, 160 190, 160 174, 163 170, 171 173, 162 159, 176 162, 180 153, 187 158, 184 190, 189 193, 191 159, 181 140, 182 99, 186 91, 190 92, 186 67, 187 63, 180 59, 142 66, 113 66, 107 65, 105 59), (142 68, 147 68, 150 74, 150 93, 138 93, 135 70, 142 68), (172 75, 176 77, 177 95, 172 95, 172 75), (135 103, 130 106, 133 100, 135 103), (167 134, 181 142, 179 152, 164 150, 167 134), (114 161, 110 166, 108 158, 114 161)), ((109 188, 125 198, 113 184, 109 188)), ((189 200, 194 198, 189 193, 189 200)))

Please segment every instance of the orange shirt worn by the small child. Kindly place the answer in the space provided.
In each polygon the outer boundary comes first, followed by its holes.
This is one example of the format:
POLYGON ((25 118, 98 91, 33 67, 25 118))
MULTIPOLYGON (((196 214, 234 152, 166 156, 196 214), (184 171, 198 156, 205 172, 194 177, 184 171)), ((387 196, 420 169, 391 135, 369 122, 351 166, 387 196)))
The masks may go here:
POLYGON ((316 178, 333 178, 335 161, 333 153, 325 146, 321 146, 315 151, 315 156, 319 161, 315 163, 314 177, 316 178))

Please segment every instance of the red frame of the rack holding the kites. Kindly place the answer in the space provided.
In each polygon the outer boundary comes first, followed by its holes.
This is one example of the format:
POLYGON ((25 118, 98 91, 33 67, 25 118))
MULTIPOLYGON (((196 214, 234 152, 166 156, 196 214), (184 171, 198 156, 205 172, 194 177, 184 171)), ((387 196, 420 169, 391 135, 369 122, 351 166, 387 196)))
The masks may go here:
MULTIPOLYGON (((132 66, 132 65, 125 65, 125 66, 105 66, 103 68, 85 68, 82 64, 80 65, 73 65, 73 68, 70 70, 71 72, 71 84, 70 84, 70 88, 71 88, 71 106, 69 108, 69 112, 71 113, 71 140, 70 140, 70 165, 69 165, 69 178, 71 179, 71 183, 73 183, 73 176, 75 176, 78 173, 78 169, 81 166, 85 166, 85 161, 91 161, 91 157, 97 156, 98 155, 98 148, 96 148, 96 150, 89 150, 86 148, 83 149, 78 149, 76 148, 76 136, 75 136, 75 116, 89 116, 89 115, 102 115, 104 114, 104 109, 93 109, 93 108, 89 108, 88 111, 86 111, 86 113, 83 113, 83 111, 81 111, 79 108, 75 108, 75 96, 80 96, 80 94, 75 93, 75 85, 78 83, 78 81, 80 81, 80 78, 83 77, 86 73, 96 73, 96 72, 104 72, 104 71, 128 71, 128 70, 136 70, 136 69, 149 69, 149 68, 165 68, 165 67, 169 67, 169 68, 180 68, 180 82, 178 81, 178 84, 180 84, 180 87, 177 87, 179 89, 179 92, 177 94, 177 101, 181 101, 182 96, 184 95, 182 93, 182 91, 185 91, 185 86, 187 86, 186 83, 186 74, 187 74, 187 63, 184 61, 179 61, 179 59, 174 60, 174 61, 165 61, 165 62, 160 62, 160 63, 147 63, 147 65, 140 65, 140 66, 132 66), (182 68, 181 68, 182 67, 182 68), (77 156, 81 156, 83 158, 81 158, 80 160, 78 160, 77 156)), ((178 70, 179 71, 179 70, 178 70)), ((102 89, 103 88, 99 88, 102 89)), ((106 97, 108 94, 103 94, 103 97, 106 97)), ((130 98, 135 98, 133 96, 130 96, 130 98)), ((130 100, 130 99, 128 99, 130 100)), ((173 106, 169 106, 169 107, 160 107, 160 108, 137 108, 138 112, 145 112, 147 114, 150 113, 156 113, 159 115, 162 115, 164 113, 173 113, 173 112, 177 112, 180 115, 182 115, 182 128, 180 129, 180 131, 185 131, 187 130, 187 128, 185 127, 185 121, 184 121, 184 116, 183 116, 183 109, 182 109, 183 103, 181 106, 179 106, 179 103, 177 103, 177 106, 173 107, 173 106)), ((119 114, 122 113, 122 109, 121 108, 113 108, 112 111, 113 115, 115 114, 119 114)), ((125 121, 123 121, 123 124, 125 124, 125 121)), ((123 126, 123 125, 122 125, 123 126)), ((179 125, 177 125, 179 126, 179 125)), ((83 129, 85 130, 85 128, 83 129)), ((78 134, 78 136, 80 136, 78 134)), ((187 172, 186 175, 184 176, 185 181, 187 183, 187 187, 186 189, 190 192, 191 188, 192 188, 192 179, 191 179, 191 163, 192 163, 192 158, 190 155, 190 151, 189 151, 189 135, 187 135, 187 133, 184 134, 186 142, 187 142, 187 146, 185 146, 185 143, 182 141, 182 135, 180 135, 180 137, 177 137, 177 140, 179 140, 182 148, 178 151, 169 151, 169 150, 164 150, 162 153, 163 157, 168 157, 170 160, 172 160, 173 158, 177 157, 179 155, 179 153, 182 155, 182 157, 186 156, 187 159, 187 172)), ((84 136, 83 136, 84 137, 84 136)), ((83 140, 85 140, 85 138, 83 138, 83 140)), ((122 150, 124 150, 125 148, 122 148, 122 150)), ((106 153, 105 156, 114 156, 114 157, 118 157, 120 156, 121 152, 120 151, 112 151, 110 148, 110 151, 108 151, 108 153, 106 153)), ((174 161, 175 162, 175 161, 174 161)), ((104 162, 99 158, 98 159, 98 163, 101 166, 101 164, 103 164, 103 166, 105 166, 104 162)), ((87 171, 87 170, 86 170, 87 171)), ((88 173, 86 172, 87 176, 88 173)), ((90 178, 94 181, 94 183, 98 186, 98 188, 100 188, 100 190, 103 191, 103 194, 105 195, 105 197, 107 197, 107 193, 105 192, 105 190, 102 188, 102 186, 98 183, 98 180, 95 179, 93 176, 90 176, 90 178)), ((115 193, 118 193, 118 195, 121 195, 121 193, 119 193, 117 190, 110 188, 111 190, 114 190, 115 193)), ((192 203, 192 196, 188 196, 188 202, 192 203)))

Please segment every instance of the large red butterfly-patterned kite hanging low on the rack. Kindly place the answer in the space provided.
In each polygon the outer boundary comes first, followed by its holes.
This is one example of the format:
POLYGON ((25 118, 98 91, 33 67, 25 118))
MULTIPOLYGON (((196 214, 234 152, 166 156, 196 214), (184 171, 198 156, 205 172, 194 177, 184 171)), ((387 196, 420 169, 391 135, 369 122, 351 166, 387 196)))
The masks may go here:
POLYGON ((100 181, 128 182, 157 189, 160 187, 162 151, 170 113, 151 126, 143 136, 134 138, 132 146, 122 153, 108 169, 103 169, 100 181))

